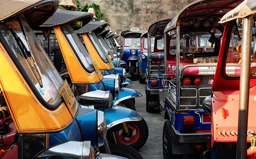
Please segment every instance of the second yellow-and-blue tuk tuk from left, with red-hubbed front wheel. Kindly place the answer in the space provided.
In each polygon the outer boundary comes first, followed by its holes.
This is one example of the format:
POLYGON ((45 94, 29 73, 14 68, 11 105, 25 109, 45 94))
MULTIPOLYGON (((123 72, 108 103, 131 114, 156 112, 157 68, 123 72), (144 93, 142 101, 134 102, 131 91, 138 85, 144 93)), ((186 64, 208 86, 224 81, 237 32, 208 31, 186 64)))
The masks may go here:
MULTIPOLYGON (((84 47, 74 31, 74 29, 86 26, 91 18, 91 13, 57 9, 46 22, 40 25, 37 31, 50 33, 44 37, 56 36, 57 42, 55 43, 60 48, 59 60, 63 59, 67 67, 66 72, 60 73, 62 77, 69 79, 72 91, 80 104, 88 107, 94 105, 95 109, 104 112, 109 143, 122 143, 139 149, 145 144, 148 137, 147 123, 134 110, 120 107, 115 103, 121 100, 116 99, 116 93, 131 89, 119 89, 119 80, 111 77, 111 74, 102 75, 98 64, 93 62, 87 48, 84 47), (77 23, 82 25, 73 25, 77 23), (105 78, 105 76, 110 77, 105 78), (96 101, 99 103, 97 104, 96 101)), ((48 55, 52 54, 54 52, 48 53, 48 55)), ((57 56, 53 55, 53 57, 57 56)), ((62 66, 61 62, 59 64, 62 66)), ((115 76, 119 77, 117 74, 115 76)), ((135 93, 137 92, 135 91, 135 93)), ((132 100, 130 102, 134 104, 132 100)))

